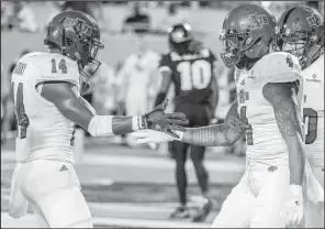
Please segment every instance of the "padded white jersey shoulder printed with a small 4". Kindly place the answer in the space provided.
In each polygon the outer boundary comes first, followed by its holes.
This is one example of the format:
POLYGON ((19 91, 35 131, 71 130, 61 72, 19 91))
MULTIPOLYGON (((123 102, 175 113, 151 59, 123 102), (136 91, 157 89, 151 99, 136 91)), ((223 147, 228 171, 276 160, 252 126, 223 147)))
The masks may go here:
POLYGON ((295 56, 276 52, 264 56, 254 66, 258 73, 258 77, 268 83, 290 83, 302 79, 302 70, 299 61, 295 56))

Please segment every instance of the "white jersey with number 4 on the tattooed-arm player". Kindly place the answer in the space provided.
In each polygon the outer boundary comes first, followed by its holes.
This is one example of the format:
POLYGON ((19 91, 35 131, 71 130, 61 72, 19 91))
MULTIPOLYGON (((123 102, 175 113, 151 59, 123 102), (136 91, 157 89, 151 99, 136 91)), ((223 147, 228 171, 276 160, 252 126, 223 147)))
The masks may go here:
MULTIPOLYGON (((288 53, 270 53, 251 69, 235 72, 238 113, 251 126, 253 135, 246 135, 246 155, 250 159, 288 159, 288 148, 278 128, 272 106, 262 95, 268 83, 299 80, 302 86, 301 66, 288 53)), ((299 91, 301 102, 302 90, 299 91)), ((302 110, 301 110, 302 111, 302 110)))

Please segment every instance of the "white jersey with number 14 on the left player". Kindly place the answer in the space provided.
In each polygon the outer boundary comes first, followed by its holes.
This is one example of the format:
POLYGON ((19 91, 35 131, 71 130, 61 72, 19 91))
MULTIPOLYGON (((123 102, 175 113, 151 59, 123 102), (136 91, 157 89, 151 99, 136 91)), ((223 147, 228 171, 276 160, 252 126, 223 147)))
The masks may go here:
POLYGON ((74 162, 74 123, 36 87, 45 81, 68 81, 79 94, 77 63, 54 53, 30 53, 18 62, 11 78, 18 117, 15 157, 19 162, 48 159, 74 162))

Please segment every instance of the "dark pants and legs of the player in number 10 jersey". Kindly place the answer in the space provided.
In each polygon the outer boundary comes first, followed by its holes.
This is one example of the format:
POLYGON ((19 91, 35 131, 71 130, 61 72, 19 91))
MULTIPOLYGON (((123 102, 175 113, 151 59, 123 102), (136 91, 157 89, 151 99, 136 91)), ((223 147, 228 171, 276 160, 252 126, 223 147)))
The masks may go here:
MULTIPOLYGON (((206 105, 192 105, 182 102, 176 105, 175 111, 186 113, 189 120, 189 127, 191 128, 209 126, 210 119, 212 117, 212 111, 206 105)), ((209 175, 206 168, 203 165, 205 148, 191 145, 179 141, 169 142, 168 150, 176 160, 176 181, 180 204, 182 205, 187 203, 186 189, 188 181, 184 165, 189 148, 191 150, 190 155, 195 168, 199 185, 203 193, 208 192, 209 189, 209 175)))

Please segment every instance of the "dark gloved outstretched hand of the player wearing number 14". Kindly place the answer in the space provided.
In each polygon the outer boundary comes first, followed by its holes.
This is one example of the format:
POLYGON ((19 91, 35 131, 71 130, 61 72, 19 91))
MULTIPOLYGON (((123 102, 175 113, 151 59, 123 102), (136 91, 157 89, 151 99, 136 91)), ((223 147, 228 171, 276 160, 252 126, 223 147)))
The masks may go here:
POLYGON ((168 133, 173 138, 179 138, 175 130, 186 132, 186 129, 180 124, 188 124, 189 120, 184 113, 165 113, 168 105, 168 99, 165 99, 161 105, 158 105, 153 111, 143 116, 144 129, 152 129, 168 133))

